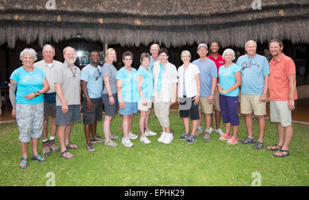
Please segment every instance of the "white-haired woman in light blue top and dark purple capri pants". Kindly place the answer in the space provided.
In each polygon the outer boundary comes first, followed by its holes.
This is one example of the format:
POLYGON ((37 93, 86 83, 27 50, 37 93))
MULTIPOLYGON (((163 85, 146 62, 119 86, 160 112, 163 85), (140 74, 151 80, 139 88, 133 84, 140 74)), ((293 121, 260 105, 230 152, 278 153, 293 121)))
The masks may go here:
POLYGON ((219 68, 217 87, 220 93, 219 102, 222 120, 225 122, 225 134, 219 139, 228 140, 227 144, 237 144, 239 125, 238 98, 242 77, 240 67, 232 61, 235 59, 235 53, 232 49, 225 49, 222 58, 225 60, 225 65, 219 68), (231 125, 233 126, 233 137, 230 135, 231 125))

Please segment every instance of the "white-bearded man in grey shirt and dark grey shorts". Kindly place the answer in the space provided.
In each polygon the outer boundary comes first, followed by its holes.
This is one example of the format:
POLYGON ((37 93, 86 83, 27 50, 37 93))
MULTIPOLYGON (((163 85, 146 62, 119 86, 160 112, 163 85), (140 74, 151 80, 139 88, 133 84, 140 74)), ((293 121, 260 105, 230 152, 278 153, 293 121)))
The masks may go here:
POLYGON ((56 89, 56 125, 61 148, 61 157, 71 159, 73 154, 67 149, 78 148, 71 144, 69 136, 73 122, 80 122, 80 69, 74 65, 76 51, 72 47, 63 49, 65 62, 54 71, 56 89))

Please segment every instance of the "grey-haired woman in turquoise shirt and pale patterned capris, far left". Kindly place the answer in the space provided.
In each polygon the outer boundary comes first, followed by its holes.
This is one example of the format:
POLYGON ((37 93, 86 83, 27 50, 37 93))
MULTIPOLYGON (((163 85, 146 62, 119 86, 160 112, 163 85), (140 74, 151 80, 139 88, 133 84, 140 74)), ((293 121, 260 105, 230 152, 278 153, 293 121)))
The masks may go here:
POLYGON ((31 159, 38 162, 45 161, 45 157, 38 153, 38 140, 43 131, 43 93, 49 91, 49 84, 43 70, 33 66, 36 60, 34 49, 24 49, 20 59, 23 61, 23 66, 15 69, 10 76, 10 101, 13 107, 12 117, 16 117, 19 126, 19 140, 23 153, 19 168, 26 168, 30 140, 32 141, 31 159))

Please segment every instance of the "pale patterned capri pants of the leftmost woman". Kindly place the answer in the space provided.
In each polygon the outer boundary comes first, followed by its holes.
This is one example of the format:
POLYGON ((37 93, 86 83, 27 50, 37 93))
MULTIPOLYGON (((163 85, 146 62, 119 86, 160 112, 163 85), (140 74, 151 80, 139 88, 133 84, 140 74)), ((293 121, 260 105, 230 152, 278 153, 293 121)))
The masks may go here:
POLYGON ((40 138, 43 131, 44 103, 16 103, 16 122, 19 126, 19 140, 30 142, 30 138, 40 138))

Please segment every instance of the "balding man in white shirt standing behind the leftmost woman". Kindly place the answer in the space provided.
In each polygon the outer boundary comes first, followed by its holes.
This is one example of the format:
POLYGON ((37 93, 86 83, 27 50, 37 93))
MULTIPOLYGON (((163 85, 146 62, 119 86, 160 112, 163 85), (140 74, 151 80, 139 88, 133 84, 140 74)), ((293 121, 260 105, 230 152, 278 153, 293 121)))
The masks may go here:
POLYGON ((49 83, 49 91, 44 94, 44 122, 43 122, 43 154, 50 155, 50 149, 53 151, 60 151, 60 148, 55 144, 55 136, 56 136, 56 91, 54 86, 54 70, 57 66, 61 66, 57 60, 54 60, 55 56, 55 48, 52 45, 44 45, 43 50, 43 60, 34 63, 34 67, 38 67, 42 69, 45 73, 47 81, 49 83), (51 115, 50 124, 50 137, 48 137, 48 120, 49 113, 51 115))

